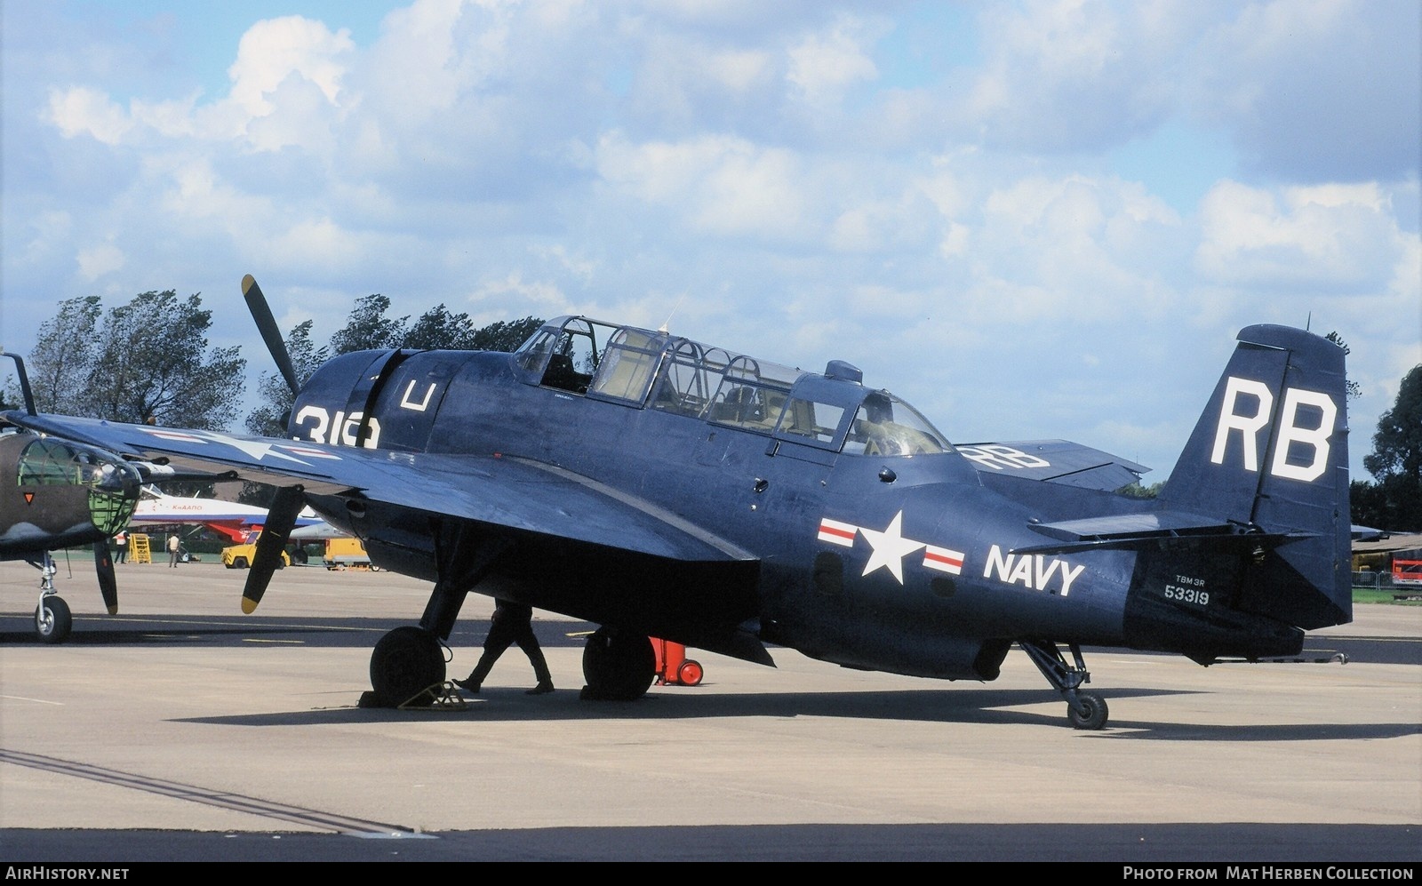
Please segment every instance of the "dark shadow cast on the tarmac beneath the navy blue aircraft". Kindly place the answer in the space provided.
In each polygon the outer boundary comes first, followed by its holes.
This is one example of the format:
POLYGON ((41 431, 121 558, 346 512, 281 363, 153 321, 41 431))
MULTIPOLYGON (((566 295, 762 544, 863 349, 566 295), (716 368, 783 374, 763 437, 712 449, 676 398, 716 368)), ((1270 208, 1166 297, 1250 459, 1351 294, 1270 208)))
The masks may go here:
MULTIPOLYGON (((1396 738, 1422 732, 1416 722, 1382 724, 1239 724, 1200 725, 1155 721, 1112 721, 1101 732, 1078 731, 1064 725, 1061 698, 1051 690, 907 690, 907 691, 846 691, 846 693, 769 693, 769 694, 701 694, 697 688, 677 688, 678 694, 654 688, 637 701, 586 703, 577 690, 559 690, 553 695, 528 698, 522 687, 486 687, 478 698, 469 698, 465 708, 360 708, 350 707, 245 714, 233 717, 201 717, 176 722, 247 727, 290 725, 351 725, 361 722, 388 724, 418 722, 437 718, 444 722, 469 721, 472 728, 489 721, 559 721, 596 722, 603 720, 660 721, 675 718, 715 717, 835 717, 850 720, 902 720, 963 725, 1052 725, 1074 738, 1111 740, 1172 740, 1172 741, 1325 741, 1344 738, 1396 738), (685 694, 680 694, 680 693, 685 694), (1041 711, 1010 710, 1024 705, 1045 705, 1041 711)), ((1113 688, 1112 700, 1189 695, 1185 690, 1113 688)))

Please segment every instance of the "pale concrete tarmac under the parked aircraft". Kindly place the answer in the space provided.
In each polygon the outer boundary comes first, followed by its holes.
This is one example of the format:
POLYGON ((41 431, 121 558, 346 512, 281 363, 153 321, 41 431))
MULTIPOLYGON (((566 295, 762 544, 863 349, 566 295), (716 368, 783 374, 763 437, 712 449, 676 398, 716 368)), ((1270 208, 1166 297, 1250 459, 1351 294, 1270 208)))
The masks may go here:
MULTIPOLYGON (((990 684, 688 650, 700 685, 580 701, 587 626, 539 612, 553 694, 515 647, 464 703, 370 710, 370 649, 428 585, 293 566, 245 630, 245 576, 121 565, 111 617, 61 562, 75 637, 43 646, 13 630, 38 573, 0 563, 0 862, 1422 862, 1416 664, 1094 653, 1111 721, 1082 732, 1017 650, 990 684)), ((1358 606, 1305 657, 1351 637, 1416 649, 1422 607, 1358 606)))

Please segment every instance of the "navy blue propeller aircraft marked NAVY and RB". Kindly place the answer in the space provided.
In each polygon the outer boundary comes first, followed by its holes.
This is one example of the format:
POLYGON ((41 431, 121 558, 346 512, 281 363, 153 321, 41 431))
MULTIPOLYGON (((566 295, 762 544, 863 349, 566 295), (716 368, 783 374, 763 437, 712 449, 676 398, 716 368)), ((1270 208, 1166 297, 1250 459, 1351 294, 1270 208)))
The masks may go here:
POLYGON ((1076 728, 1082 646, 1200 664, 1297 656, 1352 617, 1344 351, 1251 326, 1156 499, 1142 468, 1065 441, 954 447, 849 363, 823 373, 586 317, 516 353, 338 356, 297 390, 292 439, 6 414, 38 431, 279 486, 250 612, 304 503, 371 562, 434 582, 371 656, 373 698, 447 687, 469 592, 599 624, 584 697, 636 698, 648 637, 772 664, 988 681, 1017 646, 1076 728), (1064 654, 1065 653, 1065 654, 1064 654))

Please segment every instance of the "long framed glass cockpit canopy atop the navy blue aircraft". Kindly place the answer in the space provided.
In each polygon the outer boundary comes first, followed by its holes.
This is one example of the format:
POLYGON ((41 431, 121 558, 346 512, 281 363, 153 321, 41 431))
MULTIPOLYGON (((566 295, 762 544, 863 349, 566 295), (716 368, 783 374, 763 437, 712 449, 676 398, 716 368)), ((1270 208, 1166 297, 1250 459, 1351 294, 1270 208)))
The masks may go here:
POLYGON ((846 455, 929 455, 953 447, 929 420, 862 373, 823 374, 690 338, 587 317, 557 317, 513 354, 528 384, 674 412, 846 455))

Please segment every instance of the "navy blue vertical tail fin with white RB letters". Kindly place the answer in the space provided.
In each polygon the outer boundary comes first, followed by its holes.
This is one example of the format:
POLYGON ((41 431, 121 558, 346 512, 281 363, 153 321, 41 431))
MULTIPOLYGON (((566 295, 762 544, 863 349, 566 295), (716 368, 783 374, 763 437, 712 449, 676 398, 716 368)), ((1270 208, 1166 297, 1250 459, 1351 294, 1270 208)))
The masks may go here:
POLYGON ((1159 506, 1234 528, 1247 550, 1236 609, 1305 630, 1351 621, 1344 350, 1241 330, 1159 506))

